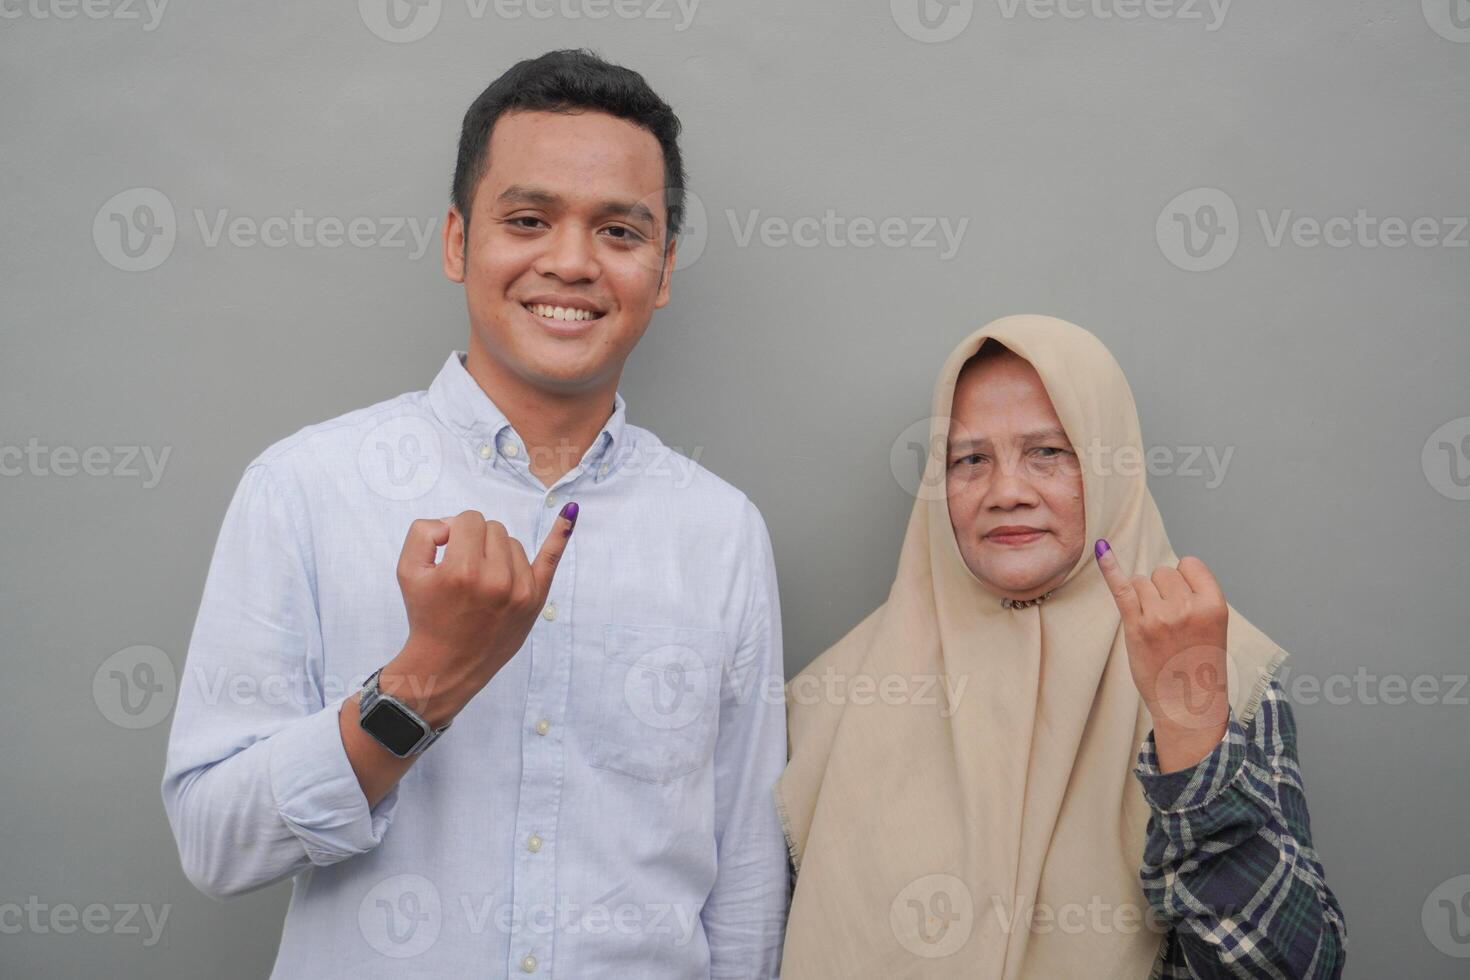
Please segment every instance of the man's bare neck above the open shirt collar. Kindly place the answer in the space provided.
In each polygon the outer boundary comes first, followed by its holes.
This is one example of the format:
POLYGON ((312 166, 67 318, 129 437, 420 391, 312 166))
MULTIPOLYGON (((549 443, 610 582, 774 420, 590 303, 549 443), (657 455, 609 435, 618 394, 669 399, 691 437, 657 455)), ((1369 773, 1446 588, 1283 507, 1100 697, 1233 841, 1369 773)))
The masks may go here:
POLYGON ((588 391, 548 394, 506 370, 473 338, 465 356, 465 370, 525 439, 531 472, 547 486, 582 461, 613 413, 616 376, 588 391))

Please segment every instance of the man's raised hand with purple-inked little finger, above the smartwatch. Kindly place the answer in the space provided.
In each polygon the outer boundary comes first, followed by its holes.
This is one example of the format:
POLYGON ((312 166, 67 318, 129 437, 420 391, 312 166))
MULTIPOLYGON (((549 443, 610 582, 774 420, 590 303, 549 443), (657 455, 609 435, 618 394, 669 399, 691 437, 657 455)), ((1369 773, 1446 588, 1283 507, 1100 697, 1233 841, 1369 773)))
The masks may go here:
POLYGON ((382 689, 422 707, 434 727, 453 718, 525 644, 576 513, 576 504, 562 508, 535 563, 504 525, 479 511, 413 522, 398 558, 409 642, 384 669, 382 689), (444 558, 435 564, 440 545, 444 558))

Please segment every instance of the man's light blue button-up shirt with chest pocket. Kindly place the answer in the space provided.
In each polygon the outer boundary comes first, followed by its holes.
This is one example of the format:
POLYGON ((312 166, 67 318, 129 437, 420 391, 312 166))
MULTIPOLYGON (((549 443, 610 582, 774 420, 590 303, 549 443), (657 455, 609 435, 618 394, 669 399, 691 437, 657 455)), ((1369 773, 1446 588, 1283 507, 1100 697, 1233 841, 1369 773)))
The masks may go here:
POLYGON ((788 904, 781 608, 744 494, 612 417, 551 488, 453 351, 276 442, 220 527, 169 736, 184 873, 293 877, 272 977, 773 977, 788 904), (535 557, 525 645, 378 807, 338 707, 409 635, 409 525, 479 510, 535 557))

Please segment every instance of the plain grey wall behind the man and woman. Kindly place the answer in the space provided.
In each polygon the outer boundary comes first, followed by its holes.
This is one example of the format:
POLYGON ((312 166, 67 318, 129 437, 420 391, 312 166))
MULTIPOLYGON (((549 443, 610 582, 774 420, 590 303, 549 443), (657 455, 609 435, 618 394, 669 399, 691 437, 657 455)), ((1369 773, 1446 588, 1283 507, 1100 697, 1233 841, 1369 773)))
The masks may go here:
POLYGON ((391 1, 0 4, 0 976, 269 973, 290 886, 193 890, 171 693, 112 671, 182 676, 256 453, 465 347, 460 116, 567 46, 684 118, 623 394, 761 507, 788 671, 888 589, 950 347, 1079 322, 1176 548, 1294 652, 1349 976, 1466 976, 1470 3, 391 1))

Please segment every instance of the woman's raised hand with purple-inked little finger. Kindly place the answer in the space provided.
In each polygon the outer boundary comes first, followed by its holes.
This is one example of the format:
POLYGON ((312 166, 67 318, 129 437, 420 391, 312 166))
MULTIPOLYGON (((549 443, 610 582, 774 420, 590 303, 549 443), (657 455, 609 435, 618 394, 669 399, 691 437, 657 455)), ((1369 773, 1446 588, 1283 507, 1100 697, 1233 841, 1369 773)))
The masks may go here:
POLYGON ((1132 579, 1107 541, 1097 542, 1097 558, 1123 616, 1133 685, 1154 718, 1158 768, 1189 768, 1214 751, 1230 720, 1225 592, 1198 558, 1132 579))

